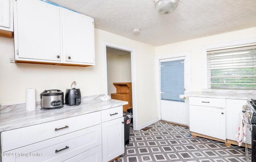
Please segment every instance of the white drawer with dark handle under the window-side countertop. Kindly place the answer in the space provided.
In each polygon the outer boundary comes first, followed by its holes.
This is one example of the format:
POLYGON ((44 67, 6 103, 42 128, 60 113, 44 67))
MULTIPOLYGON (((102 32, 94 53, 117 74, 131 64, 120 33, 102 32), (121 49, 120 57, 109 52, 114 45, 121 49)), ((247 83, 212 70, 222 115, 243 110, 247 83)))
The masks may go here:
POLYGON ((226 108, 226 99, 224 98, 207 98, 207 97, 189 97, 190 105, 211 106, 226 108))

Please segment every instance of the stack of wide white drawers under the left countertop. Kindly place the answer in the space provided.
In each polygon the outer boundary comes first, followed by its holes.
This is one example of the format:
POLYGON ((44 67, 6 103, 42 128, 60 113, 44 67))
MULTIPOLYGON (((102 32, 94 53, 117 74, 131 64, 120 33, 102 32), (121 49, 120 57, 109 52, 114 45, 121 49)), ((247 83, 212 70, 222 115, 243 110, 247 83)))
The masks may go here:
POLYGON ((56 162, 74 157, 86 161, 90 156, 101 162, 101 112, 1 132, 1 148, 2 162, 56 162))

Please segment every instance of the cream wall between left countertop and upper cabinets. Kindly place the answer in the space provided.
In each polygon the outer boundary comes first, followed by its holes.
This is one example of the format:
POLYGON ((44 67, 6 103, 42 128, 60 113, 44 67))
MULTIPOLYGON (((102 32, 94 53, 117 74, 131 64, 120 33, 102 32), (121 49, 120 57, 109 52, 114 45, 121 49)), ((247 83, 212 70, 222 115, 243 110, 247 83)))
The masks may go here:
POLYGON ((14 58, 14 44, 13 39, 10 38, 0 37, 0 49, 0 103, 2 104, 24 103, 26 88, 36 88, 37 101, 40 101, 39 95, 44 90, 59 89, 65 93, 66 88, 70 88, 73 81, 77 82, 82 96, 103 94, 104 77, 100 73, 100 66, 68 67, 10 63, 9 58, 14 58))

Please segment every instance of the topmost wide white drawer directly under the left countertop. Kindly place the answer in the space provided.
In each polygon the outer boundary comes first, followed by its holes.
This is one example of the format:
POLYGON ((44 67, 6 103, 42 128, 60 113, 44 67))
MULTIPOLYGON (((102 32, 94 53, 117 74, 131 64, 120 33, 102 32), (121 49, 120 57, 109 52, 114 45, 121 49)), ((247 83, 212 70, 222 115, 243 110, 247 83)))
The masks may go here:
POLYGON ((100 112, 55 120, 1 133, 2 152, 34 144, 101 123, 100 112))

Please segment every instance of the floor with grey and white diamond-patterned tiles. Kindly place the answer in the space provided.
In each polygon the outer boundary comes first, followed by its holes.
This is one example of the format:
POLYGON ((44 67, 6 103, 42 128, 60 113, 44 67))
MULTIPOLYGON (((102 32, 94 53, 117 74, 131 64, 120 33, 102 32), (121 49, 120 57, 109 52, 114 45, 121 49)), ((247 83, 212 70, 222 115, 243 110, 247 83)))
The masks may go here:
MULTIPOLYGON (((120 156, 121 162, 246 162, 244 147, 193 138, 189 128, 162 121, 149 127, 130 129, 130 143, 120 156)), ((248 152, 250 156, 251 150, 248 152)))

